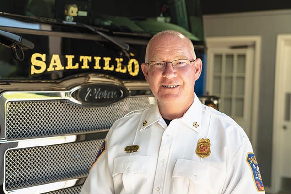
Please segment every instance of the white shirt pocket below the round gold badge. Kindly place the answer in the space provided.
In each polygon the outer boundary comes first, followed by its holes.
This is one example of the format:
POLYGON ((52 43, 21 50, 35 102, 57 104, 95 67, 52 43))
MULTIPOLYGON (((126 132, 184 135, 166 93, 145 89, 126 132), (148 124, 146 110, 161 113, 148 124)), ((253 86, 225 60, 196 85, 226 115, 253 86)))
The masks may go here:
POLYGON ((221 175, 221 170, 207 164, 177 159, 173 171, 173 194, 221 194, 221 175))

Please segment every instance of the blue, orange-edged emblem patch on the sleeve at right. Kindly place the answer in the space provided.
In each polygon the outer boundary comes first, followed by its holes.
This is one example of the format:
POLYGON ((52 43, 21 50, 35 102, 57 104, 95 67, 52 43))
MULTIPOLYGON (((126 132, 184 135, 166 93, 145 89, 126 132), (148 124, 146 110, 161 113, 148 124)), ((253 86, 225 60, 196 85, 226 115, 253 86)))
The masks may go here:
POLYGON ((249 164, 252 173, 253 180, 258 191, 265 191, 263 179, 259 171, 258 162, 254 153, 247 153, 246 162, 249 164))

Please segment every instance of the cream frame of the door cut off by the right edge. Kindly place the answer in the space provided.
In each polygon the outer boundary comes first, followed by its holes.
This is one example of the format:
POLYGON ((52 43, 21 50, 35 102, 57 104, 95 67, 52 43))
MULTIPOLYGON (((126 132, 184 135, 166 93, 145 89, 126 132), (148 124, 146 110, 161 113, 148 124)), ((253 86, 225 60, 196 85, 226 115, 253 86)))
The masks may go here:
MULTIPOLYGON (((276 45, 276 64, 275 64, 275 93, 274 93, 274 112, 273 112, 273 145, 272 145, 272 170, 271 170, 271 192, 277 193, 281 189, 281 175, 282 171, 279 168, 282 159, 281 148, 281 135, 282 130, 282 115, 280 109, 284 110, 284 70, 288 64, 288 59, 285 56, 290 55, 286 44, 291 44, 291 34, 278 34, 276 45)), ((289 129, 290 130, 290 129, 289 129)))

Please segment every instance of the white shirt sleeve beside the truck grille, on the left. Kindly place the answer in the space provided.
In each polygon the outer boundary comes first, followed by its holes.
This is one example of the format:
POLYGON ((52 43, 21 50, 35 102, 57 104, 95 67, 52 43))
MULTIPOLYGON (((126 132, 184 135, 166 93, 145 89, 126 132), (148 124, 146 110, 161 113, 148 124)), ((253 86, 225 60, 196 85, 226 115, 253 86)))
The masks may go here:
POLYGON ((94 164, 81 189, 80 194, 113 194, 113 178, 108 165, 108 152, 106 141, 100 147, 94 164))

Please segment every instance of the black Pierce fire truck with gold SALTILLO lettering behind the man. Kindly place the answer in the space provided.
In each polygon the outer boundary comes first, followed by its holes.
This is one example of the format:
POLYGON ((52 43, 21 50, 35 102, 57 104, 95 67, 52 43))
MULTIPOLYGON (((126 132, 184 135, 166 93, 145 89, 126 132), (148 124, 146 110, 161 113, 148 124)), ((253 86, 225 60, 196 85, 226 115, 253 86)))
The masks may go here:
POLYGON ((2 0, 0 194, 78 194, 114 121, 155 103, 140 65, 166 29, 205 66, 199 0, 2 0))

